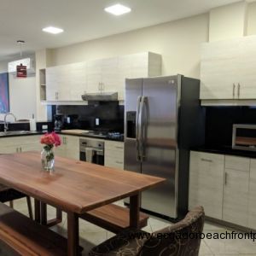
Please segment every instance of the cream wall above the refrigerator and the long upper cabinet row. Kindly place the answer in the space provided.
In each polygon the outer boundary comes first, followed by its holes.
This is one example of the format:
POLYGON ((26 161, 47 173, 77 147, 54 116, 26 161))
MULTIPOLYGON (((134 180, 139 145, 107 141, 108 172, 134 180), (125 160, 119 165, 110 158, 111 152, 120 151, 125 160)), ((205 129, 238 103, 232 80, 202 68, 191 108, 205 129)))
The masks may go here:
POLYGON ((208 14, 53 49, 52 64, 152 51, 162 55, 163 74, 199 78, 200 45, 208 40, 208 14))

